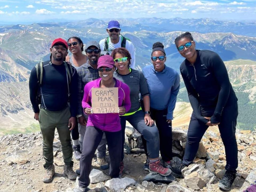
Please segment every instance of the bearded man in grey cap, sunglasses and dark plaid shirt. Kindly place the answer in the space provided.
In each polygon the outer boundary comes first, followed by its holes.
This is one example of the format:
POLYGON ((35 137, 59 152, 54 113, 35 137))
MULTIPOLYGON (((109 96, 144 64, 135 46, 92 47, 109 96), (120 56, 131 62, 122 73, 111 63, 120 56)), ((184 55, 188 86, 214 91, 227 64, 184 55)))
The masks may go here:
MULTIPOLYGON (((82 111, 82 98, 84 96, 84 86, 95 79, 98 79, 99 70, 97 69, 98 59, 100 57, 100 45, 96 41, 90 41, 87 43, 85 48, 85 53, 87 55, 87 62, 82 65, 78 70, 78 131, 81 136, 80 147, 82 151, 82 144, 84 140, 86 122, 88 120, 88 115, 85 115, 82 111)), ((103 135, 102 141, 97 148, 97 163, 100 165, 101 169, 108 169, 109 164, 105 158, 106 153, 106 137, 103 135)), ((79 171, 76 171, 79 174, 79 171)))

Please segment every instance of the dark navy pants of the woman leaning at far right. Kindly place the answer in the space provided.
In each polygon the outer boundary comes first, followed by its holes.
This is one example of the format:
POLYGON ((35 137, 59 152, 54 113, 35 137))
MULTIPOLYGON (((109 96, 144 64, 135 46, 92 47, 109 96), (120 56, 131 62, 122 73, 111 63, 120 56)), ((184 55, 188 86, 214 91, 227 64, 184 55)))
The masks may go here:
MULTIPOLYGON (((237 125, 238 107, 237 102, 232 106, 226 106, 218 125, 220 137, 223 141, 227 164, 225 169, 229 171, 236 171, 238 166, 237 159, 237 141, 235 138, 235 130, 237 125)), ((188 138, 185 148, 185 154, 182 163, 189 165, 195 158, 199 143, 208 129, 208 126, 198 121, 192 113, 191 120, 188 126, 188 138)))

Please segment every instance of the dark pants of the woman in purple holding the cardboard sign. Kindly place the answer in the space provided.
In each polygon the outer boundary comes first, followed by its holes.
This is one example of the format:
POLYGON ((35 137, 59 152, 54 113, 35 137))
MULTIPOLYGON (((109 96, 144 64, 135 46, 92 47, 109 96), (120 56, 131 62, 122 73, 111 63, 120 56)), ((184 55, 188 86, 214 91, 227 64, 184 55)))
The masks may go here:
POLYGON ((109 175, 112 178, 119 177, 119 166, 121 162, 121 148, 122 148, 122 132, 109 132, 102 131, 97 127, 89 126, 86 127, 84 141, 83 141, 83 151, 80 159, 80 177, 78 178, 80 187, 87 187, 90 184, 89 174, 92 167, 93 155, 101 141, 102 135, 105 133, 109 157, 110 157, 110 167, 109 175))

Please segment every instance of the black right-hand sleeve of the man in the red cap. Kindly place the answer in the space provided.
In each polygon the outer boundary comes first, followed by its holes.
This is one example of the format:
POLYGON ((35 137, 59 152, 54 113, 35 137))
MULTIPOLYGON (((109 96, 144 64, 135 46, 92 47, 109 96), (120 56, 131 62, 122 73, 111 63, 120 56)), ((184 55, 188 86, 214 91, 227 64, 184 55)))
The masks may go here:
MULTIPOLYGON (((73 68, 73 67, 72 67, 73 68)), ((78 75, 75 68, 73 68, 73 74, 71 83, 69 86, 70 89, 70 113, 71 117, 76 117, 77 115, 77 99, 78 99, 78 75)))

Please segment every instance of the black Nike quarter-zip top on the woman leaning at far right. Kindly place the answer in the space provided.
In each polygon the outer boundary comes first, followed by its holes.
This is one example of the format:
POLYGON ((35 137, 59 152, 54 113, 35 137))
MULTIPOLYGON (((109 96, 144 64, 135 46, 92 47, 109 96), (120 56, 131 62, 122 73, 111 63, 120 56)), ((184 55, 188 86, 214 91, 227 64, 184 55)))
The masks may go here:
POLYGON ((194 65, 185 59, 180 73, 196 118, 206 124, 208 120, 204 117, 211 117, 211 123, 219 123, 224 107, 237 102, 237 97, 219 55, 208 50, 196 51, 194 65))

